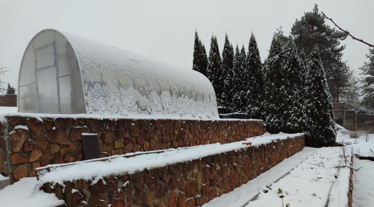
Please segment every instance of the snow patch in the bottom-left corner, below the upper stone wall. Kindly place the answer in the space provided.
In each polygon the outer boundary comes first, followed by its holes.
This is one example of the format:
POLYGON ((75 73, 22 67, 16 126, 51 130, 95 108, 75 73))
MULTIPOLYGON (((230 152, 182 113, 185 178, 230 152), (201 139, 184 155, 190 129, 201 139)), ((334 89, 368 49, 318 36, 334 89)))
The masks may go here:
POLYGON ((36 190, 36 178, 22 178, 0 190, 0 206, 52 207, 64 204, 55 194, 36 190))

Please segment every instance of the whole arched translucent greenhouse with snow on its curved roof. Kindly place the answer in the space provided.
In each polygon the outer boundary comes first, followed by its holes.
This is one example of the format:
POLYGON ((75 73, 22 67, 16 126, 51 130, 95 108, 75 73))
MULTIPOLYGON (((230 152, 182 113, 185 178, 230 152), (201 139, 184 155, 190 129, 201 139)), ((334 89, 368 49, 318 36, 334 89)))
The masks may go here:
POLYGON ((214 89, 201 73, 53 29, 35 35, 24 52, 18 111, 218 117, 214 89))

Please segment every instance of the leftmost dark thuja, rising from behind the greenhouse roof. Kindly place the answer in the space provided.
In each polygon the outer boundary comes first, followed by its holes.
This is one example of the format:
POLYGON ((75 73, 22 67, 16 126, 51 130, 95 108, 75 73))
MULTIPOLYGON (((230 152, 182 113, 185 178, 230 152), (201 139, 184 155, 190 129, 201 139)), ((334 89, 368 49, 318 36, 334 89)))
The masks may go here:
POLYGON ((206 76, 206 67, 208 66, 208 57, 206 56, 205 46, 201 43, 197 30, 195 31, 195 40, 193 46, 192 69, 206 76))

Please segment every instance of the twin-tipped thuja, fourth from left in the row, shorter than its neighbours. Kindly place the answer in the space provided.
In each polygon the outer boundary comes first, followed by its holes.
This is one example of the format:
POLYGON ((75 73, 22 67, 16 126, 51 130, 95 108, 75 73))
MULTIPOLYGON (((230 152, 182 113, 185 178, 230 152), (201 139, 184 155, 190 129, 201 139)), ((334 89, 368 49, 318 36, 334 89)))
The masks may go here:
POLYGON ((233 78, 233 88, 231 93, 233 94, 233 103, 231 110, 233 112, 245 112, 246 101, 245 98, 248 92, 248 78, 246 78, 247 70, 245 67, 245 48, 239 50, 239 46, 236 44, 235 57, 234 57, 234 78, 233 78))

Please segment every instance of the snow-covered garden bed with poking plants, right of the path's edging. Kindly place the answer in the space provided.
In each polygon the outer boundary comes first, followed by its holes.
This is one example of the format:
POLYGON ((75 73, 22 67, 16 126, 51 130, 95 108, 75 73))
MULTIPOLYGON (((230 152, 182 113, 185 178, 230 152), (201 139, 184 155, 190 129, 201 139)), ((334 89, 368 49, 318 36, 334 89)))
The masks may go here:
MULTIPOLYGON (((286 206, 286 203, 289 203, 290 206, 298 207, 325 206, 327 200, 330 200, 330 189, 335 183, 340 182, 335 178, 335 176, 340 174, 341 170, 335 167, 338 164, 344 164, 340 155, 339 147, 319 148, 306 160, 294 167, 289 175, 273 183, 271 189, 260 188, 260 194, 257 199, 249 202, 246 207, 282 206, 282 198, 279 197, 281 195, 284 196, 284 206, 286 206), (282 194, 278 194, 279 188, 282 189, 282 194)), ((350 155, 348 156, 350 157, 350 155)), ((346 185, 343 185, 346 192, 343 195, 348 193, 349 169, 347 171, 347 179, 343 181, 346 182, 346 185)), ((347 196, 345 196, 345 201, 343 200, 342 203, 348 203, 347 196)), ((339 204, 338 202, 331 206, 341 206, 339 204)))

